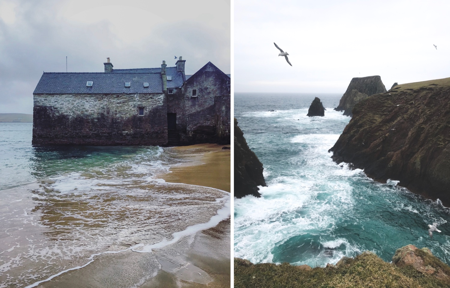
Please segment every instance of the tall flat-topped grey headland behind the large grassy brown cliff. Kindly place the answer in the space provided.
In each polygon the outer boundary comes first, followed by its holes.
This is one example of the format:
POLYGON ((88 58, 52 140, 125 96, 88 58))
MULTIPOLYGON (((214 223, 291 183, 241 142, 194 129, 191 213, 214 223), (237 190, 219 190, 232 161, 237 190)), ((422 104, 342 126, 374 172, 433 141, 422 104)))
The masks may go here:
POLYGON ((353 116, 351 110, 356 103, 361 102, 367 97, 386 92, 380 76, 368 76, 361 78, 353 78, 347 87, 347 91, 342 95, 336 111, 344 111, 343 115, 353 116))

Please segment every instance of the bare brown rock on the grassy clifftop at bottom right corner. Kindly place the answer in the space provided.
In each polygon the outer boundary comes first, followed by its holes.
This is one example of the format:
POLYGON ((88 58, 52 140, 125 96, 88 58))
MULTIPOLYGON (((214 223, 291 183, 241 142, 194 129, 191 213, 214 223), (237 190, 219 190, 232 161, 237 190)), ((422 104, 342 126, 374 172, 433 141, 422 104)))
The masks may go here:
POLYGON ((412 266, 415 270, 437 279, 450 282, 450 267, 431 253, 428 248, 419 249, 412 244, 406 245, 392 257, 392 263, 399 267, 412 266))

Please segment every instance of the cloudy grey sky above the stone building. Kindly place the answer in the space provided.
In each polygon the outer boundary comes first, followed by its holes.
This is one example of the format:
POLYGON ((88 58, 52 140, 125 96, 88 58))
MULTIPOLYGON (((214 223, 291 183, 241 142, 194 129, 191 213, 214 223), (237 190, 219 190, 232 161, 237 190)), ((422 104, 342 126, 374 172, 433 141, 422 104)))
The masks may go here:
POLYGON ((0 113, 33 111, 42 72, 208 61, 230 71, 230 0, 0 0, 0 113))

